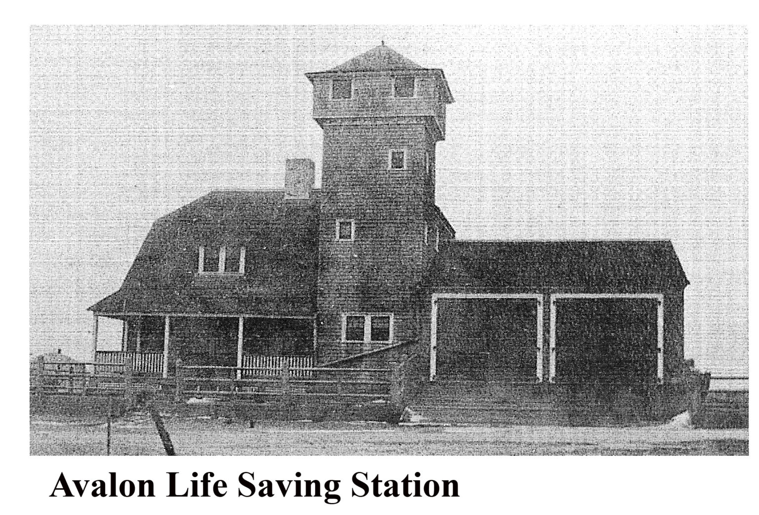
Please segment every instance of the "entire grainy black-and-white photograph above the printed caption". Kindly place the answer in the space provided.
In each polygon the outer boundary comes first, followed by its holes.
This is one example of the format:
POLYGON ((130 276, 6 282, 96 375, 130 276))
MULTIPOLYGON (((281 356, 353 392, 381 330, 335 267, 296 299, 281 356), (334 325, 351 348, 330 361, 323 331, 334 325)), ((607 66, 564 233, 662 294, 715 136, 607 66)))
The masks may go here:
POLYGON ((746 27, 38 25, 29 116, 30 455, 748 454, 746 27))

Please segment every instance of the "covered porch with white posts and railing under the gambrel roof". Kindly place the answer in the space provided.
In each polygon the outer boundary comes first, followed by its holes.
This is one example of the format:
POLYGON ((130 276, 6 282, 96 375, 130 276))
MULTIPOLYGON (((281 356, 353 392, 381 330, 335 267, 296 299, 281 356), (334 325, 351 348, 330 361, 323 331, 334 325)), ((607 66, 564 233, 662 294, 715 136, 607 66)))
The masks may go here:
MULTIPOLYGON (((93 312, 93 362, 130 363, 135 374, 168 378, 175 363, 197 367, 313 365, 313 317, 93 312), (101 327, 121 324, 121 338, 101 327)), ((209 372, 213 371, 209 368, 209 372)), ((254 370, 244 371, 246 375, 254 370)), ((238 372, 240 374, 240 372, 238 372)))

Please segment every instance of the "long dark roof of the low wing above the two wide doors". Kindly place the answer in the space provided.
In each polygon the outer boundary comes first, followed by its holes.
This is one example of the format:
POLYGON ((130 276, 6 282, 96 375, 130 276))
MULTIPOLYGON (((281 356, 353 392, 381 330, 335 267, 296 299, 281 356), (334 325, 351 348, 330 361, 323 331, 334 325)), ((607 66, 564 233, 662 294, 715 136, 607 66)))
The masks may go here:
POLYGON ((436 291, 653 292, 688 279, 669 241, 454 240, 425 283, 436 291))

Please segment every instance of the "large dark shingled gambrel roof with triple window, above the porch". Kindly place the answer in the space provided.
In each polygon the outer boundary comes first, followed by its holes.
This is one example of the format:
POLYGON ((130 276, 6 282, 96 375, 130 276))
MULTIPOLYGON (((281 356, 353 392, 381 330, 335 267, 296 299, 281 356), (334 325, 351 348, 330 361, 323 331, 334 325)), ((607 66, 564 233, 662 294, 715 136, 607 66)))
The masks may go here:
POLYGON ((310 316, 317 280, 318 191, 213 191, 150 229, 117 292, 99 313, 310 316), (244 276, 197 273, 197 248, 245 246, 244 276))

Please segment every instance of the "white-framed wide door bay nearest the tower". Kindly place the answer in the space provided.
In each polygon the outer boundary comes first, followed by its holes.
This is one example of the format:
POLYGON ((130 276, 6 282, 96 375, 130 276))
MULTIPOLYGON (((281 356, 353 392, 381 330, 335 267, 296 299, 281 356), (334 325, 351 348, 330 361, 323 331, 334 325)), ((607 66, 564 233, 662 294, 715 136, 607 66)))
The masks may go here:
POLYGON ((433 311, 433 378, 534 383, 542 375, 538 299, 443 298, 433 311))

